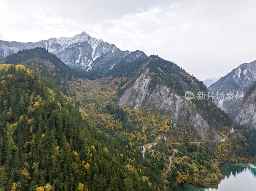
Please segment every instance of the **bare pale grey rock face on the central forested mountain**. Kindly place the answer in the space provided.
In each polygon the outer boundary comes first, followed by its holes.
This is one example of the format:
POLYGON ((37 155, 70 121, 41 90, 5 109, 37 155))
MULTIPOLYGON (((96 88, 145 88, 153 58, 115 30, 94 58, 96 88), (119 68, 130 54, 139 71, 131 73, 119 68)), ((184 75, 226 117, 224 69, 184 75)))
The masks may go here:
POLYGON ((206 131, 209 130, 208 123, 199 115, 194 108, 182 98, 175 94, 165 85, 156 85, 156 88, 151 91, 148 88, 150 84, 149 69, 145 70, 136 80, 124 95, 121 97, 118 105, 120 107, 132 107, 140 109, 144 103, 152 104, 152 107, 170 110, 175 117, 180 117, 183 121, 187 121, 199 130, 201 140, 209 140, 206 131))

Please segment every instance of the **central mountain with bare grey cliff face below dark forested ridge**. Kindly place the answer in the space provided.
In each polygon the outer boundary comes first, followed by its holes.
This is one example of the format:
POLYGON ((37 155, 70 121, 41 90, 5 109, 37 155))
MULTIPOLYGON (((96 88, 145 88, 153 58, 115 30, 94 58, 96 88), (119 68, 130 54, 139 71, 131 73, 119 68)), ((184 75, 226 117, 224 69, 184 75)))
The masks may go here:
POLYGON ((175 128, 173 136, 180 139, 214 139, 215 133, 224 137, 231 127, 228 114, 216 107, 211 98, 207 99, 208 90, 202 82, 175 63, 155 55, 149 57, 135 77, 122 79, 117 92, 123 95, 119 101, 121 107, 138 108, 143 113, 149 108, 160 109, 156 113, 175 122, 171 124, 175 128), (205 99, 195 97, 186 101, 187 90, 195 95, 205 92, 205 99))

